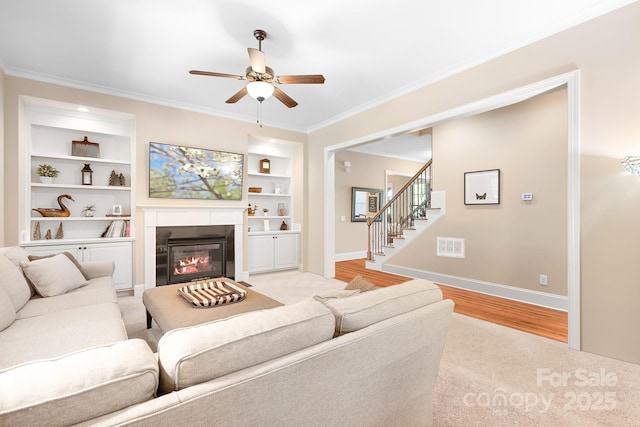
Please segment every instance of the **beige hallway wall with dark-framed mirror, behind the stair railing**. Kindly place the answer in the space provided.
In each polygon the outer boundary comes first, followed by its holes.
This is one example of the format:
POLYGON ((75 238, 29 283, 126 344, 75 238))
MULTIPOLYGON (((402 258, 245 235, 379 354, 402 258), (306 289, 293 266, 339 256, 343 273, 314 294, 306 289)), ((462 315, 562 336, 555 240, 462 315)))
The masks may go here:
MULTIPOLYGON (((385 171, 416 173, 422 163, 389 157, 372 156, 354 151, 336 153, 335 174, 335 253, 367 251, 367 223, 351 222, 351 187, 385 188, 385 171), (351 162, 351 172, 344 171, 343 162, 351 162), (340 217, 344 215, 345 220, 340 217)), ((384 202, 383 202, 384 203, 384 202)))

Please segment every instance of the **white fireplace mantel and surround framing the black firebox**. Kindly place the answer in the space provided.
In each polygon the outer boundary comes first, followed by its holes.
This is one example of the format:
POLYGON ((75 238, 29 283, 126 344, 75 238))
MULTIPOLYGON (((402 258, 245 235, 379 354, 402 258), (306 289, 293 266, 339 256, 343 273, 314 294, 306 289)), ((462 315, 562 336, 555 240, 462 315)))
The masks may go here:
POLYGON ((244 211, 242 206, 138 206, 144 214, 144 288, 156 286, 156 227, 233 225, 235 280, 247 280, 244 269, 244 211))

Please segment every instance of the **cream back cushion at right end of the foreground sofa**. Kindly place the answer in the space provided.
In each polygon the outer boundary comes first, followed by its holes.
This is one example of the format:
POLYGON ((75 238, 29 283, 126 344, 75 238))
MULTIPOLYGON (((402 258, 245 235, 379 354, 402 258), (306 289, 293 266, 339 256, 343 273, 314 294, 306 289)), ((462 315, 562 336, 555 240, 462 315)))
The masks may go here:
POLYGON ((357 331, 402 313, 442 300, 433 282, 415 279, 351 298, 330 299, 325 305, 336 316, 336 335, 357 331))

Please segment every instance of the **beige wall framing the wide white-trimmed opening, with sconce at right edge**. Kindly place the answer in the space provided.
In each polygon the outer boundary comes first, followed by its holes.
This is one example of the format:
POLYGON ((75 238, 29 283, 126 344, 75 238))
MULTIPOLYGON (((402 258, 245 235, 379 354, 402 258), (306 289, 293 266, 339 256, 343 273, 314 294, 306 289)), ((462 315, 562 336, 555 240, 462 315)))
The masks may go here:
MULTIPOLYGON (((311 133, 309 192, 322 194, 326 146, 580 70, 582 348, 640 363, 640 178, 619 164, 640 150, 638 22, 640 2, 311 133)), ((434 185, 436 165, 434 159, 434 185)), ((307 215, 314 224, 309 240, 321 242, 321 198, 309 199, 307 215)), ((322 245, 310 251, 309 269, 322 274, 322 245)))

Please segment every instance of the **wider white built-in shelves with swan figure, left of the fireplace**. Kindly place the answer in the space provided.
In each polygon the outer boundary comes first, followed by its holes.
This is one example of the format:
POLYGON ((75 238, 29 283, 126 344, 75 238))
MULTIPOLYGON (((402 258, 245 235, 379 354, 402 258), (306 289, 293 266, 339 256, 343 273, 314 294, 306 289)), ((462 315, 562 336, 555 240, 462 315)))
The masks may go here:
POLYGON ((116 289, 132 289, 135 117, 33 97, 21 97, 20 102, 21 246, 37 255, 69 251, 79 261, 114 261, 116 289), (99 157, 72 155, 72 141, 85 137, 99 144, 99 157), (53 183, 40 182, 37 169, 44 163, 60 171, 53 183), (92 185, 82 183, 86 164, 93 171, 92 185), (112 172, 122 174, 124 185, 110 185, 112 172), (58 196, 63 194, 73 198, 61 200, 68 217, 43 217, 33 210, 60 208, 58 196), (95 206, 92 217, 83 213, 88 205, 95 206), (114 216, 114 206, 120 207, 120 215, 114 216), (101 237, 114 220, 124 221, 124 236, 101 237), (60 227, 63 237, 56 239, 60 227), (49 230, 51 238, 46 239, 49 230))

